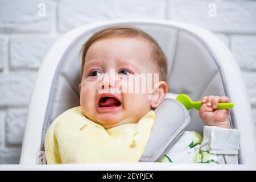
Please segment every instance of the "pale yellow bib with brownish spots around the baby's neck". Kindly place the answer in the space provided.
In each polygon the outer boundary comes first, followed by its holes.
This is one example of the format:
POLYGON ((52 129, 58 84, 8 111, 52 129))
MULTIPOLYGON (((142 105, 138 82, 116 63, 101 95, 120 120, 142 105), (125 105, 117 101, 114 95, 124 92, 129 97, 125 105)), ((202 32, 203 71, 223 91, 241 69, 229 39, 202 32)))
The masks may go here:
POLYGON ((57 117, 44 142, 48 164, 138 162, 155 121, 149 111, 138 123, 110 129, 90 121, 81 107, 73 107, 57 117))

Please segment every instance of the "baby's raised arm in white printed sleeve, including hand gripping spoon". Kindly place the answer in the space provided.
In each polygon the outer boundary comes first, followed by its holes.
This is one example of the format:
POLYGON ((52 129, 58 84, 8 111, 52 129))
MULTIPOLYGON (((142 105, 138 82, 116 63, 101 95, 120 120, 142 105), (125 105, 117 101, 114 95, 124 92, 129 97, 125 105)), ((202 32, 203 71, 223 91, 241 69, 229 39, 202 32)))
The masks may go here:
POLYGON ((159 162, 237 164, 240 131, 231 129, 229 109, 215 110, 228 97, 203 97, 199 116, 204 121, 203 138, 195 131, 184 131, 159 162))

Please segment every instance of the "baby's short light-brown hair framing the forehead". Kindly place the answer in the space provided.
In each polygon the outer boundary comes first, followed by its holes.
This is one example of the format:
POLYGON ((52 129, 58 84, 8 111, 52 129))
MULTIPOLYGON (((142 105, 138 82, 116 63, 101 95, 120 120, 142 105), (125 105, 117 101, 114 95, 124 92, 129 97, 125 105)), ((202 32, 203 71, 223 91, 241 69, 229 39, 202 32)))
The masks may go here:
POLYGON ((158 70, 160 73, 159 79, 166 81, 167 75, 167 58, 164 55, 162 49, 156 42, 154 38, 148 35, 146 32, 140 30, 139 28, 135 28, 132 26, 114 26, 105 28, 104 30, 97 31, 94 33, 81 48, 82 55, 82 65, 81 65, 81 73, 80 80, 82 79, 82 74, 84 73, 84 65, 85 65, 85 56, 90 46, 98 40, 109 39, 109 38, 138 38, 141 40, 146 40, 149 43, 151 48, 151 57, 152 60, 156 61, 158 65, 158 70))

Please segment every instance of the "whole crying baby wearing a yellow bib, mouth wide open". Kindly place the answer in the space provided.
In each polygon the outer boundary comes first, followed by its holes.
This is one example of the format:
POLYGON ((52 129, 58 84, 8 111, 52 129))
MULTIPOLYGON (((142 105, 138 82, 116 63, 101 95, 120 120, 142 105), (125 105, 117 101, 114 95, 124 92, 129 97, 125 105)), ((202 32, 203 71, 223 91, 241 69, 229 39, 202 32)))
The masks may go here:
MULTIPOLYGON (((49 127, 47 163, 138 162, 154 126, 154 109, 168 93, 166 56, 150 35, 130 26, 96 32, 81 53, 80 106, 65 111, 49 127)), ((184 131, 159 162, 237 163, 239 142, 230 146, 237 141, 229 137, 236 140, 239 132, 230 129, 229 109, 216 110, 229 98, 205 96, 201 102, 204 138, 184 131), (224 148, 209 147, 211 133, 222 135, 224 148), (205 155, 199 159, 199 154, 205 155)))

